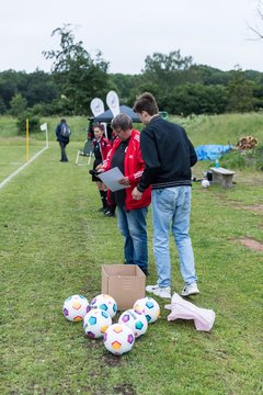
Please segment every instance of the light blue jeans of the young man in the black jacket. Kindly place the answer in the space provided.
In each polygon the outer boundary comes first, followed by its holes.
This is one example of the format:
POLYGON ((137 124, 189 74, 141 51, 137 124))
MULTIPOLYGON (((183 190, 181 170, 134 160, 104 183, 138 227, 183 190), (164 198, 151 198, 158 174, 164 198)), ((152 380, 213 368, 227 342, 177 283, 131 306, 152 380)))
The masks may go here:
POLYGON ((180 269, 185 284, 197 281, 194 253, 188 236, 191 187, 152 190, 151 198, 153 251, 158 271, 158 285, 171 286, 170 227, 178 248, 180 269))

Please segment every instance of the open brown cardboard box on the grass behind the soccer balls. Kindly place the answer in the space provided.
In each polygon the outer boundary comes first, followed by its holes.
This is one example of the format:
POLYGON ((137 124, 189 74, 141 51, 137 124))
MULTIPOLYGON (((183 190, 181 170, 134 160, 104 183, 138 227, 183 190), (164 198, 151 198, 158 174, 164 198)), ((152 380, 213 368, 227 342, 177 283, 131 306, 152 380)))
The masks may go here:
POLYGON ((136 264, 102 264, 102 293, 111 295, 118 311, 133 308, 145 297, 146 276, 136 264))

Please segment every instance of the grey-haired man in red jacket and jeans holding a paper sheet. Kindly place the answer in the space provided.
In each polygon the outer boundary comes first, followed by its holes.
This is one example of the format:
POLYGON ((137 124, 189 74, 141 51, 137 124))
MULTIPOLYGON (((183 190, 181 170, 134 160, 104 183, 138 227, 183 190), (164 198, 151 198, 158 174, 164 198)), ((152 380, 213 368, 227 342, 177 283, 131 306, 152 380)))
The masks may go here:
POLYGON ((112 128, 117 137, 99 171, 117 167, 124 174, 119 183, 127 188, 114 192, 114 199, 117 205, 118 229, 124 236, 125 263, 137 264, 147 275, 146 216, 151 202, 151 189, 147 188, 139 201, 132 195, 145 169, 140 154, 140 133, 133 128, 133 121, 126 114, 116 115, 112 121, 112 128))

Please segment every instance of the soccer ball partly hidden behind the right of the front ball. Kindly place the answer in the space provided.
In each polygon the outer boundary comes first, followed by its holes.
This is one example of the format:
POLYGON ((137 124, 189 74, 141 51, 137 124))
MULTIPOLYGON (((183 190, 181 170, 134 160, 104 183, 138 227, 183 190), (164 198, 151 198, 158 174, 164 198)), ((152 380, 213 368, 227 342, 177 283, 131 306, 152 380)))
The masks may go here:
POLYGON ((127 325, 133 330, 136 338, 144 335, 148 328, 148 320, 145 314, 136 312, 133 308, 124 312, 119 316, 118 323, 127 325))

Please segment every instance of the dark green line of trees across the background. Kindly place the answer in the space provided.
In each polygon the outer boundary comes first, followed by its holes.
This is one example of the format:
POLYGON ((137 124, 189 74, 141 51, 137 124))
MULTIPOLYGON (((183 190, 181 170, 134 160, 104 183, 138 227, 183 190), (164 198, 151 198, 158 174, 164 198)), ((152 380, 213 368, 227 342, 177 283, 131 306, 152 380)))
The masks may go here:
POLYGON ((0 72, 0 114, 89 116, 91 100, 104 99, 110 90, 127 105, 142 91, 150 91, 160 110, 183 116, 263 109, 260 71, 243 71, 238 65, 230 71, 195 65, 178 49, 147 56, 139 75, 110 74, 101 52, 92 57, 81 41, 76 42, 70 25, 56 29, 53 35, 59 35, 59 48, 43 52, 53 60, 50 72, 0 72))

